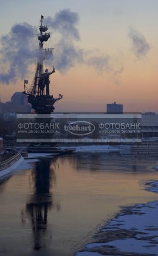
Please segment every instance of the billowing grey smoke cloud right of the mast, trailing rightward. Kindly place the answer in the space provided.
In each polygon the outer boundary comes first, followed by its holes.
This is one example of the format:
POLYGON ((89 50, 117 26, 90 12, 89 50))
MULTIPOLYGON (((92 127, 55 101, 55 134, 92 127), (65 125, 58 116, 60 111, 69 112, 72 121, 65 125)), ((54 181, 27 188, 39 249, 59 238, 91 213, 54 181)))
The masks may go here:
POLYGON ((79 15, 64 9, 56 13, 54 18, 47 17, 45 23, 50 25, 53 31, 61 34, 60 41, 55 44, 54 63, 61 72, 73 67, 75 64, 86 64, 96 69, 98 73, 109 70, 110 57, 90 56, 84 49, 76 47, 80 40, 79 31, 76 26, 79 23, 79 15))

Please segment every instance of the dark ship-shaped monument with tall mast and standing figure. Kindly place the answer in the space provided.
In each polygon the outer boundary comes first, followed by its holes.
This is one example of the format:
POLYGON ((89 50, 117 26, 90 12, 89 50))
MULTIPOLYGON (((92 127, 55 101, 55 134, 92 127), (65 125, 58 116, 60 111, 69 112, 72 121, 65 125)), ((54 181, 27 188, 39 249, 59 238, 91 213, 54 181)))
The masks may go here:
POLYGON ((43 26, 44 16, 41 15, 40 20, 40 33, 37 34, 39 40, 39 49, 36 50, 37 62, 35 63, 35 75, 30 88, 26 87, 27 80, 24 80, 24 91, 28 95, 28 102, 32 105, 32 108, 37 114, 51 114, 54 111, 54 103, 62 99, 62 95, 59 94, 57 98, 49 94, 49 76, 55 72, 54 66, 52 72, 48 72, 48 69, 44 70, 43 62, 53 55, 54 48, 44 48, 45 42, 50 38, 51 33, 46 32, 48 26, 43 26), (46 87, 46 93, 45 93, 46 87))

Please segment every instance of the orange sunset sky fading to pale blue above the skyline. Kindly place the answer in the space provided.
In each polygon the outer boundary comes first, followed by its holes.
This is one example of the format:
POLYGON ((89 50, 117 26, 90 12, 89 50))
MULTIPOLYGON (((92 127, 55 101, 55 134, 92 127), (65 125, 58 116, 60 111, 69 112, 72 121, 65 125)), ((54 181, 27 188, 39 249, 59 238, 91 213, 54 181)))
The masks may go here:
MULTIPOLYGON (((91 65, 82 61, 71 68, 56 69, 50 91, 54 96, 63 94, 63 99, 56 103, 56 111, 105 111, 107 103, 116 102, 124 105, 124 111, 158 112, 157 0, 45 0, 44 6, 42 3, 0 0, 0 35, 8 34, 15 23, 39 26, 41 14, 53 18, 64 9, 78 13, 79 22, 74 26, 80 40, 75 40, 74 45, 83 50, 84 56, 90 52, 90 57, 95 58, 91 65), (99 60, 107 55, 109 69, 99 69, 99 60)), ((54 32, 53 45, 58 37, 54 32)), ((56 67, 55 61, 52 64, 56 67)), ((4 70, 3 66, 1 71, 8 72, 8 68, 4 70)), ((24 77, 29 84, 34 76, 34 66, 30 68, 32 72, 24 77)), ((51 71, 50 66, 48 69, 51 71)), ((1 102, 9 101, 14 92, 22 90, 20 76, 9 84, 0 79, 1 102)))

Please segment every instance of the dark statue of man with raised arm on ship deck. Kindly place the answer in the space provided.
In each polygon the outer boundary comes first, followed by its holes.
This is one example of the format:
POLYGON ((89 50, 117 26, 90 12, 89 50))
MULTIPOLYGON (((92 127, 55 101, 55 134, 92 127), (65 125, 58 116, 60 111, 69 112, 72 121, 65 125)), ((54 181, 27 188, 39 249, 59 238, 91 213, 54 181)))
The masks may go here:
POLYGON ((53 66, 52 72, 48 72, 48 69, 45 70, 45 73, 40 76, 40 95, 43 95, 44 88, 46 86, 46 95, 49 95, 49 76, 55 73, 55 69, 53 66))

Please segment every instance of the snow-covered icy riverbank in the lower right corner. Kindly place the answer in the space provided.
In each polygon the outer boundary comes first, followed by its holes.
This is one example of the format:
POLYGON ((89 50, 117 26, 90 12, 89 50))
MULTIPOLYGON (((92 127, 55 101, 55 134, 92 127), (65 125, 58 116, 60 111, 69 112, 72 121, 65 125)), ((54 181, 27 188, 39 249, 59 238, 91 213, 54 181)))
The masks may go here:
MULTIPOLYGON (((158 181, 147 182, 146 186, 148 191, 158 193, 158 181)), ((157 256, 158 201, 122 207, 94 240, 75 256, 157 256)))

